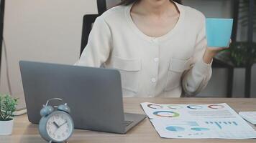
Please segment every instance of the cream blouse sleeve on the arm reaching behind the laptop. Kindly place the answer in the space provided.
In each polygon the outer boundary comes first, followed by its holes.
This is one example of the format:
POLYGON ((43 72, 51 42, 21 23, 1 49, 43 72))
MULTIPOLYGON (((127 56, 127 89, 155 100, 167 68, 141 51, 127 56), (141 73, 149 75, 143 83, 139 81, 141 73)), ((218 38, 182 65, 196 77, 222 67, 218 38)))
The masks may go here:
POLYGON ((93 24, 88 44, 75 65, 100 67, 109 59, 111 47, 111 31, 104 18, 99 16, 93 24))

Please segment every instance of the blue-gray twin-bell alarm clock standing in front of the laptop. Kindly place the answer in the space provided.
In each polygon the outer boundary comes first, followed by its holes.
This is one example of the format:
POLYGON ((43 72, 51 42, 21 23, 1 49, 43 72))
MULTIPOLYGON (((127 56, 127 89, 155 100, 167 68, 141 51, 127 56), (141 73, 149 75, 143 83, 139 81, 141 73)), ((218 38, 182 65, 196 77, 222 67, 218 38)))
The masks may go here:
POLYGON ((39 123, 39 132, 47 142, 68 142, 73 134, 74 124, 70 117, 70 108, 68 104, 60 104, 58 107, 52 107, 50 101, 63 99, 49 99, 40 111, 42 118, 39 123))

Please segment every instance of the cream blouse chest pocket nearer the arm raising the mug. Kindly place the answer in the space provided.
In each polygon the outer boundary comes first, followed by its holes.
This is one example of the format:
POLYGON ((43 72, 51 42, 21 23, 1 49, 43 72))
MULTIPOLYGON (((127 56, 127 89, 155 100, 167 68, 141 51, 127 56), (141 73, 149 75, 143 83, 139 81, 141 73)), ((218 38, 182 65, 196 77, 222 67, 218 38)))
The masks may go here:
POLYGON ((165 84, 165 91, 170 91, 179 87, 181 84, 181 76, 184 71, 188 70, 191 66, 190 59, 170 59, 170 65, 168 69, 168 77, 165 84))

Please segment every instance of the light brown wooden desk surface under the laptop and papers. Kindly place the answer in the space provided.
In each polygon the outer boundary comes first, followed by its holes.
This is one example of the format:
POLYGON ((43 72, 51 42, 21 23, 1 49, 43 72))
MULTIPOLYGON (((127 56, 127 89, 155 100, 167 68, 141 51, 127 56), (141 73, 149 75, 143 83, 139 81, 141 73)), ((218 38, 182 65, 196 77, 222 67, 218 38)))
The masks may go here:
MULTIPOLYGON (((213 99, 213 98, 128 98, 124 99, 125 112, 144 114, 140 107, 141 102, 153 102, 158 104, 214 104, 227 103, 237 112, 255 111, 256 99, 213 99)), ((256 127, 254 127, 256 129, 256 127)), ((27 115, 16 117, 12 136, 0 137, 1 143, 40 143, 45 142, 38 134, 37 125, 30 124, 27 115)), ((69 140, 70 143, 114 143, 114 142, 256 142, 256 139, 162 139, 152 127, 149 119, 145 119, 137 127, 134 127, 127 134, 110 134, 104 132, 93 132, 76 130, 69 140)))

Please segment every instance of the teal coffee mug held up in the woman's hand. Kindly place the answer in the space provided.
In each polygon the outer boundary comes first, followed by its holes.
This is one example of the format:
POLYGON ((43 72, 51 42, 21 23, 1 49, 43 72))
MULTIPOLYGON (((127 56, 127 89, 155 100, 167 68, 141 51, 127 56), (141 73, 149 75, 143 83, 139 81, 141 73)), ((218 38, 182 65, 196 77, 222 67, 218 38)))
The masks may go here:
POLYGON ((206 19, 207 46, 228 47, 233 19, 206 19))

